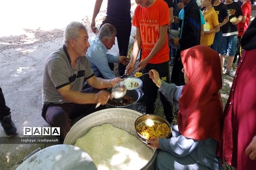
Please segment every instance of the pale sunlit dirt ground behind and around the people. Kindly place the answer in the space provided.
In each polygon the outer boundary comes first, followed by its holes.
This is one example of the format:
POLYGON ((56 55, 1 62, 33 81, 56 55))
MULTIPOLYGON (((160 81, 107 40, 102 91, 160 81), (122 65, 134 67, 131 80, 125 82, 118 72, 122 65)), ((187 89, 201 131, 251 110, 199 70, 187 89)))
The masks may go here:
MULTIPOLYGON (((12 3, 4 2, 0 11, 0 16, 3 16, 0 28, 0 87, 6 105, 11 108, 17 136, 23 136, 23 127, 48 126, 41 117, 44 61, 63 44, 63 29, 68 23, 76 20, 90 26, 95 0, 90 0, 90 3, 73 0, 72 4, 67 0, 45 0, 42 4, 23 0, 17 1, 15 6, 12 3), (11 11, 15 11, 14 14, 11 11)), ((98 26, 105 11, 106 1, 103 1, 97 17, 98 26)), ((254 17, 255 11, 254 8, 254 17)), ((117 47, 112 52, 116 51, 117 47)), ((221 90, 224 104, 231 84, 232 78, 224 75, 221 90)), ((5 136, 0 127, 0 138, 5 136)), ((0 143, 0 169, 13 170, 33 150, 47 146, 49 144, 0 143)))

